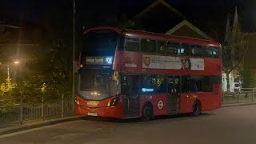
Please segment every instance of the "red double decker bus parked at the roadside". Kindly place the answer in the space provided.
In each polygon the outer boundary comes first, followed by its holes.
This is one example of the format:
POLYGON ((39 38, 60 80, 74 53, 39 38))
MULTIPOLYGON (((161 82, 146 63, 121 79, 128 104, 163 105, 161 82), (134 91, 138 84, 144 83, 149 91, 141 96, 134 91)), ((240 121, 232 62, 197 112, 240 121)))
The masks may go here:
POLYGON ((218 42, 96 27, 84 33, 78 67, 77 114, 150 120, 222 105, 218 42))

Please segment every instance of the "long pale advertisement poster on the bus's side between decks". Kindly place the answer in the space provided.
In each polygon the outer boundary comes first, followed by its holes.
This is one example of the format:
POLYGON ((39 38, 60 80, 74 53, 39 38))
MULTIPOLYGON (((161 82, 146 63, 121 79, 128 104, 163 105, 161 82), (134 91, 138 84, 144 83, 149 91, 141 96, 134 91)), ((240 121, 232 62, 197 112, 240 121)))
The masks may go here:
POLYGON ((204 70, 202 58, 179 58, 159 55, 142 55, 144 69, 204 70))

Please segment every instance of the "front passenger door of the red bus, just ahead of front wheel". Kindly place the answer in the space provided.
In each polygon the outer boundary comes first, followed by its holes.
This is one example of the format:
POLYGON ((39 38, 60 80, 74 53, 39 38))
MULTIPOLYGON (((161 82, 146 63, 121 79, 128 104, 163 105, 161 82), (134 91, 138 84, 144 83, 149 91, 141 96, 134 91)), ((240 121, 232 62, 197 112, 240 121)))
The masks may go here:
POLYGON ((125 118, 139 116, 140 76, 122 76, 123 112, 125 118))

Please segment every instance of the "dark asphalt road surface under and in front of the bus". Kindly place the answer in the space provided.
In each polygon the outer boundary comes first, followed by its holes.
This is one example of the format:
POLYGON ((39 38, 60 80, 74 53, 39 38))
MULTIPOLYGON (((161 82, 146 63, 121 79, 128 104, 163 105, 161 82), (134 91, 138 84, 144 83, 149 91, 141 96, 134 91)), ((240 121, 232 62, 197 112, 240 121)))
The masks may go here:
POLYGON ((226 107, 199 117, 188 115, 150 122, 83 118, 0 136, 0 143, 256 143, 256 105, 226 107), (96 121, 95 121, 96 120, 96 121))

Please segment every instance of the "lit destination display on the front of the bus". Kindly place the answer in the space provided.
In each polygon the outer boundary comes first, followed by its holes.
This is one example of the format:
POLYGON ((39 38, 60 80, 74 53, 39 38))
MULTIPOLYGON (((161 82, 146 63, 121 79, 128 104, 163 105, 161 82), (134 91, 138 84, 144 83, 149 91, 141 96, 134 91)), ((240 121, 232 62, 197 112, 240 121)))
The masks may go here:
POLYGON ((86 65, 112 65, 113 57, 86 57, 86 65))

